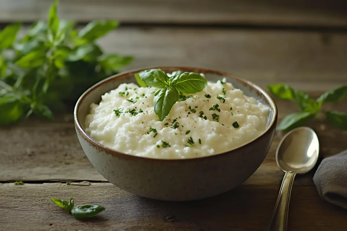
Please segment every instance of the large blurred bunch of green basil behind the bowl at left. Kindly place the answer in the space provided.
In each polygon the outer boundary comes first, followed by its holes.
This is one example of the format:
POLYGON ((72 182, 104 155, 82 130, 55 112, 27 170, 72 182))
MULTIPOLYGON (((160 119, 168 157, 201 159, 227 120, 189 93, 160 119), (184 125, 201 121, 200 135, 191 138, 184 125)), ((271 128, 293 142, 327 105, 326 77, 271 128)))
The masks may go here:
POLYGON ((0 126, 33 113, 52 118, 52 110, 73 105, 88 87, 133 60, 104 54, 95 43, 117 21, 92 21, 77 30, 73 21, 59 19, 57 3, 47 22, 34 23, 21 38, 20 23, 0 32, 0 126))

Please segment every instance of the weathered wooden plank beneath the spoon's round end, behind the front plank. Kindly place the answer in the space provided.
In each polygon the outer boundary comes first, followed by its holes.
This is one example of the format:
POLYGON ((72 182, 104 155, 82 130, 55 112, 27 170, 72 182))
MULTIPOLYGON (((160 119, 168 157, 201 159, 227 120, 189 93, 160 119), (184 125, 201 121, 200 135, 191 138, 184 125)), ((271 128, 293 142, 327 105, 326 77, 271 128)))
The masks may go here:
MULTIPOLYGON (((316 94, 319 95, 319 94, 316 94)), ((288 101, 277 100, 279 119, 297 111, 288 101)), ((327 105, 326 110, 347 112, 347 100, 341 104, 327 105)), ((75 181, 105 179, 94 169, 78 142, 72 116, 57 117, 54 123, 30 119, 14 127, 0 130, 0 182, 5 181, 75 181)), ((347 131, 333 128, 326 122, 315 121, 311 125, 321 141, 321 157, 337 154, 347 144, 336 137, 344 137, 347 131), (324 130, 322 129, 324 128, 324 130)), ((278 133, 262 166, 249 178, 252 182, 278 184, 283 177, 276 166, 275 152, 282 137, 278 133)), ((312 185, 312 174, 298 178, 297 185, 312 185)))

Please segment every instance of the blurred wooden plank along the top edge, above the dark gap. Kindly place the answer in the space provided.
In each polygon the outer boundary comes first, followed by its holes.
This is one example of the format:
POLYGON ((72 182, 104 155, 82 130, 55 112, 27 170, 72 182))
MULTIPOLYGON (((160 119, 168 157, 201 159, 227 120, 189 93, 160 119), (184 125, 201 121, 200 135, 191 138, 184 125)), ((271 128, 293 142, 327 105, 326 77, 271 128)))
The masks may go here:
MULTIPOLYGON (((1 0, 0 21, 46 18, 53 0, 1 0)), ((125 23, 346 26, 346 1, 60 0, 60 16, 125 23)))

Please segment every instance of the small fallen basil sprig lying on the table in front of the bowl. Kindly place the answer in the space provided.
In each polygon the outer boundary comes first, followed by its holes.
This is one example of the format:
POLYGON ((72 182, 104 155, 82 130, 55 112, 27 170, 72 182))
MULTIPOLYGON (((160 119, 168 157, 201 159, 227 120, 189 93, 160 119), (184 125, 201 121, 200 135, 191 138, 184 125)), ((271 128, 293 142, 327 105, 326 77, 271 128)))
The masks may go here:
POLYGON ((69 202, 59 198, 50 198, 50 199, 51 201, 54 202, 54 204, 68 211, 77 219, 85 219, 85 218, 93 217, 105 210, 105 207, 100 205, 78 205, 74 207, 74 197, 72 196, 69 199, 69 202))

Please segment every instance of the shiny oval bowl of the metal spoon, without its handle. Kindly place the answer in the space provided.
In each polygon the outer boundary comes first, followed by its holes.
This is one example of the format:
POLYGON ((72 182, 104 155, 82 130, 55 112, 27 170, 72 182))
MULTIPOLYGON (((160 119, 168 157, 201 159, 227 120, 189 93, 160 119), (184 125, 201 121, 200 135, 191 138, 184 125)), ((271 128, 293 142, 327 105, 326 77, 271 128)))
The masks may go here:
POLYGON ((276 151, 276 163, 284 172, 305 174, 316 165, 319 141, 309 127, 298 127, 288 132, 276 151))

